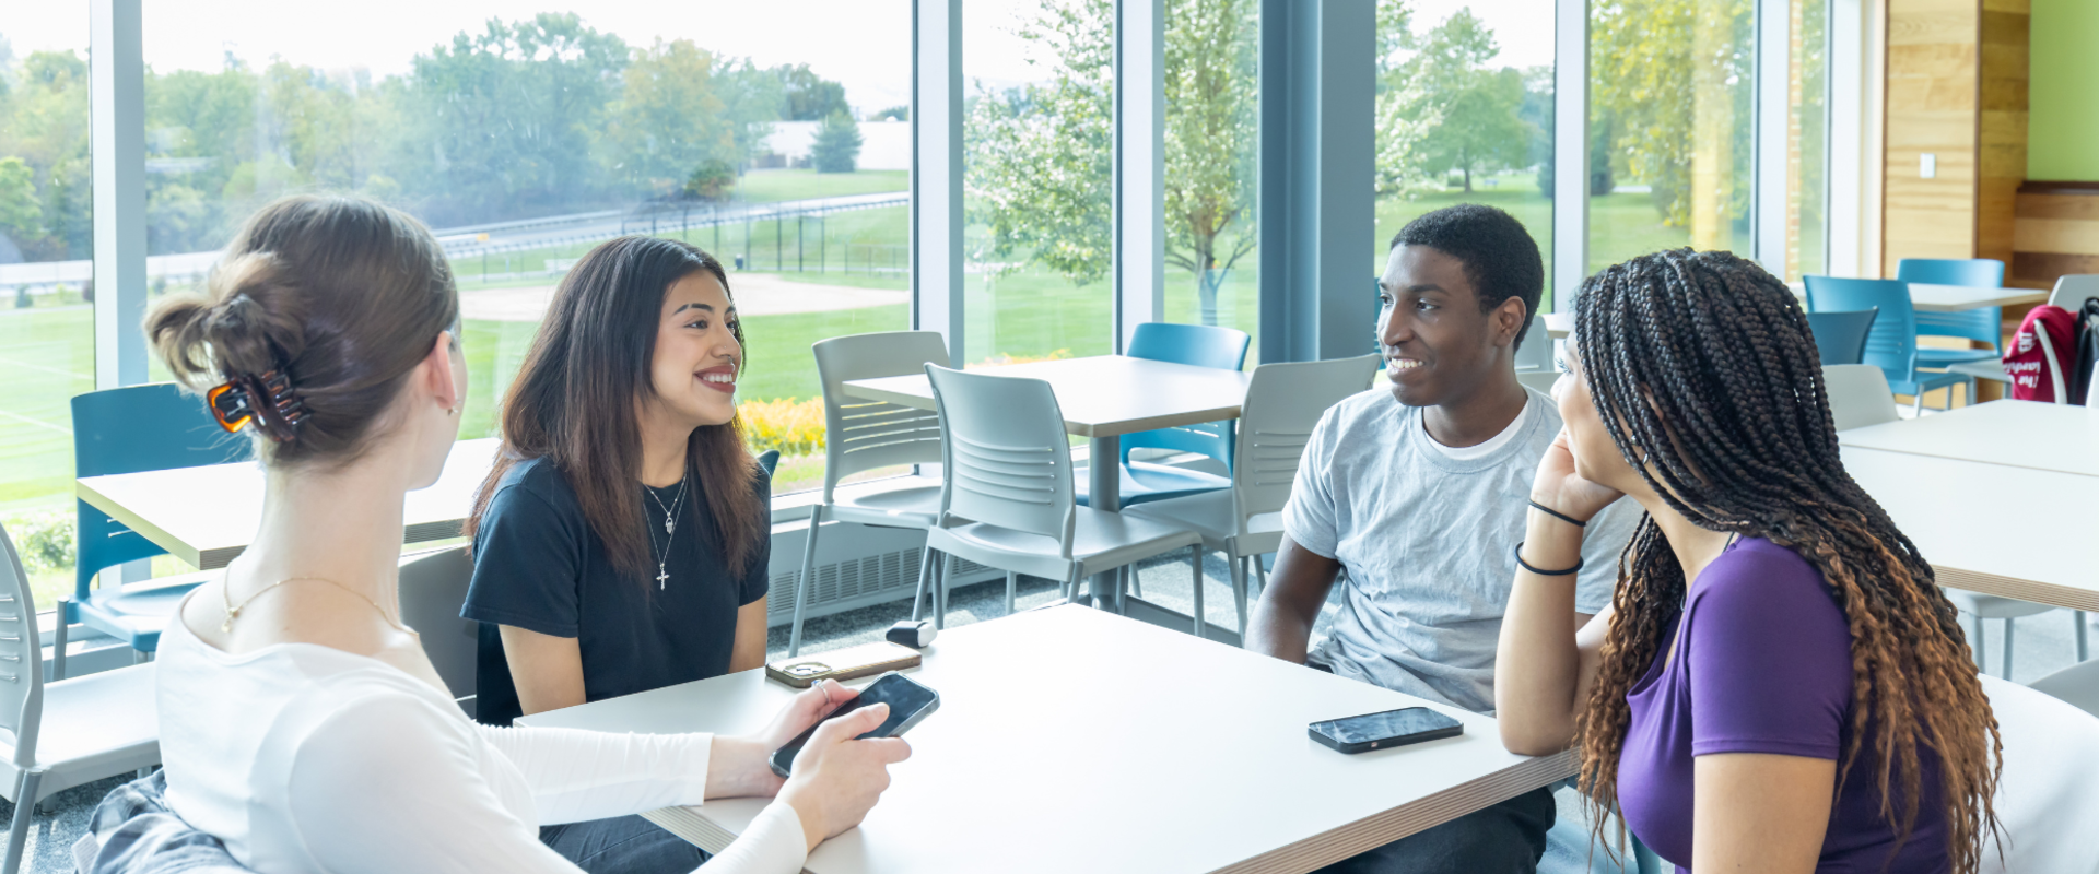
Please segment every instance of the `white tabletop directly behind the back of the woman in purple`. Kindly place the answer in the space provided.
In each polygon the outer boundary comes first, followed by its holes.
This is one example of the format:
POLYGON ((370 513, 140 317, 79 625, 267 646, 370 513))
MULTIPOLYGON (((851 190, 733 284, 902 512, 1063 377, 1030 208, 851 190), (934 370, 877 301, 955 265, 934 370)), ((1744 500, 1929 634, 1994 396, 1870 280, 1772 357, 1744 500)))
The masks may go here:
POLYGON ((1843 461, 1939 585, 2099 610, 2099 478, 1864 446, 1843 461))

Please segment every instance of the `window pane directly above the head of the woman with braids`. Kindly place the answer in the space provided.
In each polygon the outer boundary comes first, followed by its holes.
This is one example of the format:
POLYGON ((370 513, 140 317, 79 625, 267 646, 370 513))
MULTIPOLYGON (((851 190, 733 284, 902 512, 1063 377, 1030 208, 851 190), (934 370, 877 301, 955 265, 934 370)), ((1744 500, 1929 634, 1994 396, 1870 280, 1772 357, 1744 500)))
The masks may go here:
POLYGON ((1753 254, 1755 84, 1753 0, 1591 0, 1591 272, 1679 245, 1753 254))

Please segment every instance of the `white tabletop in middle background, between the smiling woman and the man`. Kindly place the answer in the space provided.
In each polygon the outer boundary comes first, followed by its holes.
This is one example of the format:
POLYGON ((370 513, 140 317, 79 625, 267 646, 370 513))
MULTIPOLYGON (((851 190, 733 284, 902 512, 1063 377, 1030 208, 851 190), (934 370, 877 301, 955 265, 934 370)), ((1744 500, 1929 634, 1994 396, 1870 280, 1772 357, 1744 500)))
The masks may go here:
MULTIPOLYGON (((1110 438, 1154 428, 1236 419, 1251 375, 1220 367, 1102 354, 1091 358, 1035 360, 972 373, 1047 379, 1064 411, 1064 428, 1085 438, 1110 438)), ((869 400, 934 409, 924 373, 848 379, 846 392, 869 400)))

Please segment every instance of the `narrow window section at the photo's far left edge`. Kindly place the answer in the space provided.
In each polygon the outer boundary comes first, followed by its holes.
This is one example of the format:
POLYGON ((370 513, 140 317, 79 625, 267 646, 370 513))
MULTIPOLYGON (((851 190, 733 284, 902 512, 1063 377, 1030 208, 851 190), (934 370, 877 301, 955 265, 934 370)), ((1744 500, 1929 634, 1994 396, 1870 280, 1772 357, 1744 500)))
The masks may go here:
POLYGON ((0 524, 40 608, 73 585, 73 411, 94 390, 88 4, 0 19, 0 524))

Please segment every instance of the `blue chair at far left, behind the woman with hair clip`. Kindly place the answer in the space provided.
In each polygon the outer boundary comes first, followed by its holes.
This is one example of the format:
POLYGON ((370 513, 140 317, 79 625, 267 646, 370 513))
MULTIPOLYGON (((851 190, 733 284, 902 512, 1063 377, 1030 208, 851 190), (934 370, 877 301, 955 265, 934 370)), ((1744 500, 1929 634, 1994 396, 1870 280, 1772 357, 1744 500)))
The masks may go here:
MULTIPOLYGON (((73 469, 78 476, 139 474, 241 461, 248 440, 227 434, 204 400, 172 381, 109 388, 73 396, 73 469)), ((52 677, 65 677, 67 625, 80 622, 145 654, 160 648, 160 629, 189 589, 210 572, 118 585, 94 574, 141 558, 166 555, 139 532, 78 501, 73 597, 59 602, 52 677)))

